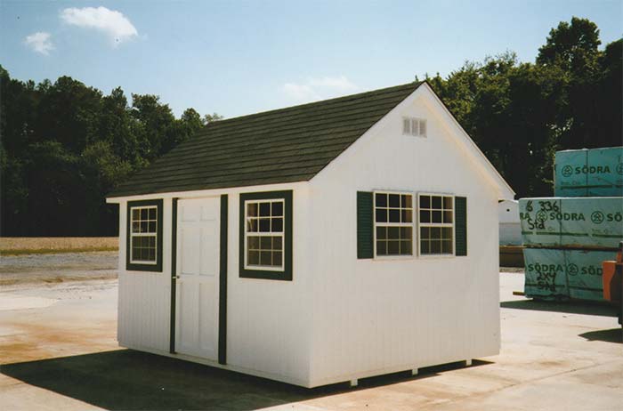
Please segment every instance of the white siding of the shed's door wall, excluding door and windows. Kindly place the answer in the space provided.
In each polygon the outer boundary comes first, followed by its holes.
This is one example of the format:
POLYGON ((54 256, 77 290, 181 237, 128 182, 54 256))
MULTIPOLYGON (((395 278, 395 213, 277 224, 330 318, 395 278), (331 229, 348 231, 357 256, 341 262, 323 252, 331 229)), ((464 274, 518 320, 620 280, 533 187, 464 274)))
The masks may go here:
MULTIPOLYGON (((165 195, 163 270, 125 270, 126 206, 119 203, 119 345, 169 355, 172 197, 229 195, 227 367, 279 381, 309 384, 312 343, 310 196, 307 183, 205 190, 165 195), (239 194, 293 189, 293 281, 239 278, 239 194)), ((179 356, 216 367, 214 361, 179 356)))

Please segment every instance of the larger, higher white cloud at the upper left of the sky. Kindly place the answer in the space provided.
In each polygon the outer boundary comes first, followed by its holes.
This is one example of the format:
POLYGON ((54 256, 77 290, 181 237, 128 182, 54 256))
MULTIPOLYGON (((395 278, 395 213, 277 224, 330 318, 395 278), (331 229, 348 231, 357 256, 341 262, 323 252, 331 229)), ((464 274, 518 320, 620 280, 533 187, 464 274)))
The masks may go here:
POLYGON ((113 44, 119 44, 138 36, 138 31, 122 12, 106 7, 70 7, 61 12, 61 20, 80 28, 95 28, 110 37, 113 44))

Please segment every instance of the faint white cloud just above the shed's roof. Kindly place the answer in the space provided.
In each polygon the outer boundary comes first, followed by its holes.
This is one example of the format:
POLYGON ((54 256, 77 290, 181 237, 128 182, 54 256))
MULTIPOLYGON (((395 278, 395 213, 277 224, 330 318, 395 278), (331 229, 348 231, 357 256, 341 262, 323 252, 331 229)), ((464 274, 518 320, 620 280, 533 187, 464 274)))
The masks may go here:
POLYGON ((345 76, 307 78, 302 83, 286 83, 283 93, 293 101, 307 102, 355 93, 360 88, 345 76))

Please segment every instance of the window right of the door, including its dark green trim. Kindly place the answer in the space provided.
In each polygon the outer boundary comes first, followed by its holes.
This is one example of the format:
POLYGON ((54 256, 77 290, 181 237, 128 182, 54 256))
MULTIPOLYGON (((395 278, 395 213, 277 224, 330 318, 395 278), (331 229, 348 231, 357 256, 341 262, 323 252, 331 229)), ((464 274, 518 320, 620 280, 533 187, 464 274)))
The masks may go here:
POLYGON ((292 279, 292 191, 240 194, 240 277, 292 279))

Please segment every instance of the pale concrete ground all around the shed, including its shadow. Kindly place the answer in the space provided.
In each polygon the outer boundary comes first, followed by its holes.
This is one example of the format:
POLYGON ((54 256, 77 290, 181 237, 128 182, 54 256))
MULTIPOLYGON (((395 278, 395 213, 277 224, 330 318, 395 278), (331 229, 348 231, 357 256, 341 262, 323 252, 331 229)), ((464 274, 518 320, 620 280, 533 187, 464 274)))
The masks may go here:
MULTIPOLYGON (((336 384, 305 390, 119 349, 117 280, 85 280, 86 266, 101 261, 98 267, 113 270, 116 262, 107 254, 85 256, 86 265, 76 262, 80 256, 63 258, 52 270, 64 273, 61 282, 14 281, 0 290, 3 411, 623 409, 623 343, 613 311, 515 296, 513 291, 522 290, 522 273, 500 273, 500 355, 474 360, 472 367, 452 364, 425 368, 415 377, 399 373, 361 380, 356 389, 336 384), (67 262, 84 274, 75 276, 67 262)), ((34 265, 13 261, 15 267, 34 265)), ((11 270, 17 277, 18 270, 11 270)), ((40 278, 41 271, 20 272, 40 278)))

